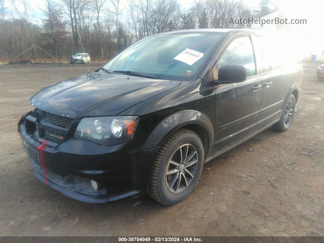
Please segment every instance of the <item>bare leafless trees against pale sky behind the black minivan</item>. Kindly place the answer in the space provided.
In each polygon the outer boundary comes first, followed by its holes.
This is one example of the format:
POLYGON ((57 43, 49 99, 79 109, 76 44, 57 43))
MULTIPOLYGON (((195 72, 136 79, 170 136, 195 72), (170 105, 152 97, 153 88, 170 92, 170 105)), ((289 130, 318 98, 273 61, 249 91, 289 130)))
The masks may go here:
MULTIPOLYGON (((230 18, 275 11, 270 0, 251 9, 238 0, 195 0, 184 9, 177 0, 41 0, 35 21, 27 0, 0 0, 0 57, 14 58, 37 45, 56 58, 77 52, 108 59, 131 43, 172 30, 235 28, 230 18), (6 1, 11 7, 6 7, 6 1), (123 5, 122 5, 123 4, 123 5)), ((34 50, 24 54, 32 57, 34 50)), ((38 51, 37 56, 46 56, 38 51)))

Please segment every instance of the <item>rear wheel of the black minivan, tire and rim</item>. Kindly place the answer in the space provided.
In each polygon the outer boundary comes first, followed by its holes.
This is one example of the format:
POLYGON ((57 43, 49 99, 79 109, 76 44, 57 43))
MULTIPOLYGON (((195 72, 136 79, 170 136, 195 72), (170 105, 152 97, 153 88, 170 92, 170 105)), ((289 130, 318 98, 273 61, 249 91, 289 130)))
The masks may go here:
POLYGON ((283 114, 280 117, 280 120, 273 124, 272 127, 280 132, 287 131, 293 122, 294 114, 295 114, 295 106, 296 106, 296 99, 295 95, 291 94, 288 102, 285 105, 285 109, 283 114))

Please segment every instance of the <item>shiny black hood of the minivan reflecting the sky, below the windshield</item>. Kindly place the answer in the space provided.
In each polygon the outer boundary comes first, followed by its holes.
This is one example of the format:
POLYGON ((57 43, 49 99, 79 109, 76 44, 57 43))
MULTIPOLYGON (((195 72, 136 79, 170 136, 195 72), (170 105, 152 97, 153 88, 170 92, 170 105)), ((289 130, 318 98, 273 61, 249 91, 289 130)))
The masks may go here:
POLYGON ((40 110, 71 118, 118 115, 179 85, 180 81, 90 72, 42 88, 29 103, 40 110))

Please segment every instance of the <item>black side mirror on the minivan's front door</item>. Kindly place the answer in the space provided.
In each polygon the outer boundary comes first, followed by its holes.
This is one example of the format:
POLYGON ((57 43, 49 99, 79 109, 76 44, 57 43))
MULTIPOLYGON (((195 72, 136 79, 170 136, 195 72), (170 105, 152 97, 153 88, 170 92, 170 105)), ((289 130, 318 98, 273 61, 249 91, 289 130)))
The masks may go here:
POLYGON ((246 79, 246 68, 237 64, 227 64, 218 69, 215 83, 238 83, 246 79))

